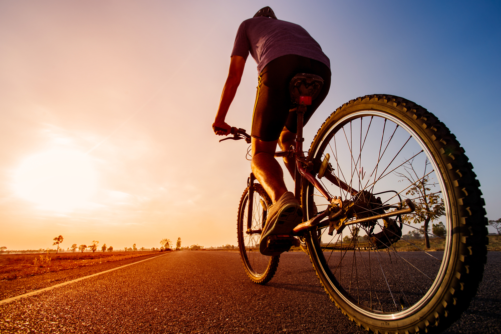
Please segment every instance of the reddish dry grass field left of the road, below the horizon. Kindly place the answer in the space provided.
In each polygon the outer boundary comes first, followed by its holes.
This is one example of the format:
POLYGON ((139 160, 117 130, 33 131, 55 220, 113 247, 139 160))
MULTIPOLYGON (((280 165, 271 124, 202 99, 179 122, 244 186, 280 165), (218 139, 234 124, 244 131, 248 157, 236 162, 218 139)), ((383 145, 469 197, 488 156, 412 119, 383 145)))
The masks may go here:
POLYGON ((119 261, 156 252, 95 252, 60 254, 2 254, 0 280, 40 275, 108 261, 119 261))

